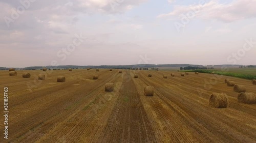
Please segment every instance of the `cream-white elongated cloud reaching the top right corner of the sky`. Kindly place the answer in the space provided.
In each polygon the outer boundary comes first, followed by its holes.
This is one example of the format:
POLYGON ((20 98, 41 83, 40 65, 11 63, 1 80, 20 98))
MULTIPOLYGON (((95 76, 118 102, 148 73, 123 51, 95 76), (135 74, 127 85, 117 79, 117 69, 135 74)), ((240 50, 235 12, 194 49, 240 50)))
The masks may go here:
POLYGON ((174 10, 158 17, 179 16, 194 12, 199 19, 217 19, 224 22, 248 19, 256 16, 256 0, 237 0, 230 4, 210 1, 204 5, 175 6, 174 10))

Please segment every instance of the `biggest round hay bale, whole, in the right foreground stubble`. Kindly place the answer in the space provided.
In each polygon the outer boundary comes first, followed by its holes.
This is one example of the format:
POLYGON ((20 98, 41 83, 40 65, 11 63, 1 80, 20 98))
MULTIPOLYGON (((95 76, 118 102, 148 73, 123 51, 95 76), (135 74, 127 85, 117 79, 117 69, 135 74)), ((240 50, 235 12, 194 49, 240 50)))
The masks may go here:
POLYGON ((214 93, 210 96, 209 106, 215 108, 226 108, 228 106, 228 97, 224 93, 214 93))

